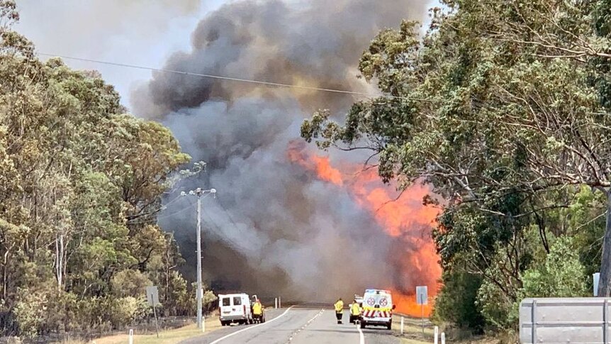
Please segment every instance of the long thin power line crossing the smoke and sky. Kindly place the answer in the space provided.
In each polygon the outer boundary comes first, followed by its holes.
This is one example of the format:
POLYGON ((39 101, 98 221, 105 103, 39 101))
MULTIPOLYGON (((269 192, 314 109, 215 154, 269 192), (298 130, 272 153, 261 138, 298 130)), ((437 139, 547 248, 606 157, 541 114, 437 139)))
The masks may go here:
POLYGON ((392 95, 388 95, 388 94, 365 93, 365 92, 349 91, 347 89, 327 89, 327 88, 323 88, 323 87, 300 86, 300 85, 295 85, 295 84, 283 84, 281 82, 266 82, 266 81, 262 81, 262 80, 242 79, 242 78, 239 78, 239 77, 224 77, 222 75, 184 72, 184 71, 181 71, 181 70, 169 70, 167 68, 155 68, 155 67, 146 67, 146 66, 140 66, 140 65, 130 65, 130 64, 127 64, 127 63, 119 63, 119 62, 110 62, 110 61, 103 61, 103 60, 87 59, 87 58, 84 58, 84 57, 72 57, 72 56, 67 56, 67 55, 48 54, 46 52, 37 52, 36 54, 41 55, 41 56, 47 56, 47 57, 61 57, 62 59, 65 59, 65 60, 92 62, 92 63, 99 63, 101 65, 111 65, 111 66, 116 66, 116 67, 135 68, 137 70, 150 70, 150 71, 154 71, 154 72, 174 73, 174 74, 181 74, 181 75, 189 75, 189 76, 192 76, 192 77, 207 77, 207 78, 211 78, 211 79, 229 80, 229 81, 234 81, 234 82, 247 82, 247 83, 250 83, 250 84, 261 84, 261 85, 265 85, 265 86, 288 87, 288 88, 293 88, 293 89, 308 89, 310 91, 324 91, 324 92, 341 93, 341 94, 352 94, 352 95, 355 95, 355 96, 369 96, 369 97, 381 97, 381 96, 383 96, 383 97, 391 98, 391 99, 408 99, 408 100, 428 101, 427 99, 409 98, 409 97, 405 97, 405 96, 392 96, 392 95))

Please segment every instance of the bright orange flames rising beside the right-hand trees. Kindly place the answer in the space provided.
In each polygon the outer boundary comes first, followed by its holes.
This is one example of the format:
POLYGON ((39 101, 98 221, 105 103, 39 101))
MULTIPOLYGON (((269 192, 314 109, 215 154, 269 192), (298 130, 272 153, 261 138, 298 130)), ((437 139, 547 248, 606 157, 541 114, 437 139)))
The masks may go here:
POLYGON ((414 184, 397 196, 396 188, 384 185, 375 168, 363 170, 361 165, 346 163, 335 168, 329 157, 308 153, 305 143, 301 141, 291 142, 287 156, 291 162, 314 172, 318 179, 347 188, 357 204, 373 214, 386 234, 398 239, 393 248, 393 260, 404 277, 400 279, 404 281, 401 286, 403 292, 388 286, 380 287, 393 291, 397 312, 419 317, 422 309, 416 304, 415 284, 427 285, 429 304, 424 307, 424 315, 430 316, 432 298, 437 294, 442 274, 430 235, 439 209, 422 204, 423 197, 429 194, 430 189, 414 184), (406 247, 409 249, 406 250, 406 247), (414 292, 405 292, 408 289, 414 292))

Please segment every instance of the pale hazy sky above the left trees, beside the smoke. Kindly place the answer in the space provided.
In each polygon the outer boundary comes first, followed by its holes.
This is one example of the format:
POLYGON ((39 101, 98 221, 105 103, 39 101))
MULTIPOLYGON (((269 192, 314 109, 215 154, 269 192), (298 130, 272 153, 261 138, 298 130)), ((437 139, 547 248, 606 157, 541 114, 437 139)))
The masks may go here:
MULTIPOLYGON (((191 33, 206 13, 230 2, 235 1, 18 0, 21 21, 16 29, 33 40, 38 52, 162 67, 172 52, 190 49, 191 33)), ((438 1, 430 3, 437 6, 438 1)), ((65 62, 101 72, 125 106, 132 89, 151 77, 147 70, 65 62)))

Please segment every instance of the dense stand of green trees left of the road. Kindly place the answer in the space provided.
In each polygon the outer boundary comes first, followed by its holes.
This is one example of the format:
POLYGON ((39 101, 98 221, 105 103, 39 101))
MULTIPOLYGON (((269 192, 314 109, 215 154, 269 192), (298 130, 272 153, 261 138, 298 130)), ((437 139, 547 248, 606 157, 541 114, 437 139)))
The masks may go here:
POLYGON ((123 328, 149 314, 151 284, 162 313, 193 314, 156 224, 190 157, 99 73, 38 60, 15 9, 0 1, 0 335, 123 328))

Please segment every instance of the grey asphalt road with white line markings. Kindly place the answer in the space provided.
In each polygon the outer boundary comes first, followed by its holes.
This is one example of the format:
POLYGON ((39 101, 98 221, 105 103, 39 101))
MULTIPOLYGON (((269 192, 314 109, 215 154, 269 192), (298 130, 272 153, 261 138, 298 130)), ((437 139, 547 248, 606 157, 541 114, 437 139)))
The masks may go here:
POLYGON ((184 340, 181 344, 399 344, 393 332, 348 323, 338 325, 330 309, 272 309, 260 325, 230 326, 184 340))

